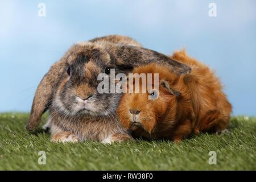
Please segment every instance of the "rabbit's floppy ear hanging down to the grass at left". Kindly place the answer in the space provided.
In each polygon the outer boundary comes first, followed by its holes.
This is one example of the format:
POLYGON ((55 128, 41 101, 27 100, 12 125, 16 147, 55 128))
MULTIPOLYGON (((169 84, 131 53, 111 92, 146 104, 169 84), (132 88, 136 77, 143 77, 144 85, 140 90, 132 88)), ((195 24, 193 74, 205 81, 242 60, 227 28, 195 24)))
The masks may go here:
POLYGON ((48 73, 44 75, 36 89, 30 118, 28 119, 26 129, 32 131, 39 125, 43 113, 51 104, 51 97, 53 91, 56 89, 57 82, 65 69, 65 61, 60 60, 52 65, 48 73))

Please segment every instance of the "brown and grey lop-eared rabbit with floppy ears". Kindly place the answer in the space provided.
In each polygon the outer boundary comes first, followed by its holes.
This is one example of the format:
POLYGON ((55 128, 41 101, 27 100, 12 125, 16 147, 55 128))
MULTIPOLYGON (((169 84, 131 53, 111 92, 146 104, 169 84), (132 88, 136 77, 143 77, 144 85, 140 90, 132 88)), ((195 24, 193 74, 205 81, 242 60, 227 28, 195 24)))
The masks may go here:
POLYGON ((117 73, 127 73, 135 65, 152 61, 170 65, 170 71, 179 74, 191 71, 187 65, 142 48, 125 36, 107 36, 74 44, 40 81, 26 129, 33 131, 42 114, 49 110, 46 126, 53 141, 112 143, 131 139, 116 115, 121 94, 98 93, 97 76, 109 75, 110 68, 117 73))

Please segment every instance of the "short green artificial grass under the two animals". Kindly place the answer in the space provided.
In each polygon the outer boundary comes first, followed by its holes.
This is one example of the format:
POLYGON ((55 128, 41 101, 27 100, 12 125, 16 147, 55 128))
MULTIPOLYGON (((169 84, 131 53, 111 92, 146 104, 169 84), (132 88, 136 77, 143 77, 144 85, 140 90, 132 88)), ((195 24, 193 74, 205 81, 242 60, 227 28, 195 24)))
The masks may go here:
POLYGON ((52 143, 40 130, 28 133, 27 119, 28 114, 0 114, 1 170, 256 170, 256 118, 233 117, 229 133, 201 134, 179 144, 52 143), (39 151, 46 152, 46 165, 38 164, 39 151), (216 151, 216 165, 208 163, 209 151, 216 151))

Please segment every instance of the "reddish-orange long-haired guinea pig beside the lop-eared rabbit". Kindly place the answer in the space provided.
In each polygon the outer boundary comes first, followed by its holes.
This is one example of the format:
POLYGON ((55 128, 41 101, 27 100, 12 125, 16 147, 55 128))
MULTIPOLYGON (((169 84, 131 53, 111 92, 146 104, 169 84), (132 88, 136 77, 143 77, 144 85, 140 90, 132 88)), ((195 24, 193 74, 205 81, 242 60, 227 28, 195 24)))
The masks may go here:
POLYGON ((174 142, 192 134, 225 130, 232 105, 222 92, 220 80, 209 67, 189 57, 184 50, 175 52, 171 58, 189 65, 191 73, 179 76, 155 63, 134 68, 133 73, 159 73, 159 87, 147 93, 123 94, 117 109, 122 126, 134 138, 174 142), (148 95, 158 98, 148 100, 148 95))

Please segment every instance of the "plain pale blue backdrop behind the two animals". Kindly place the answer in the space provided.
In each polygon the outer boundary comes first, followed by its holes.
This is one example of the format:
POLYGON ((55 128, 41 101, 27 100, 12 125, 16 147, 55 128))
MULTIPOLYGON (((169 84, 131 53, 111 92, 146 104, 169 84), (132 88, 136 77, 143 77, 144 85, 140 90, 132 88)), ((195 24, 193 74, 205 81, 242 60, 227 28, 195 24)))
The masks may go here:
POLYGON ((256 1, 1 1, 0 111, 29 111, 36 86, 73 43, 131 36, 216 70, 233 114, 256 115, 256 1), (46 4, 46 17, 38 4, 46 4), (208 15, 216 3, 217 16, 208 15))

